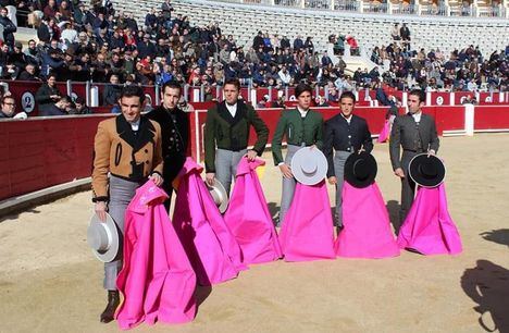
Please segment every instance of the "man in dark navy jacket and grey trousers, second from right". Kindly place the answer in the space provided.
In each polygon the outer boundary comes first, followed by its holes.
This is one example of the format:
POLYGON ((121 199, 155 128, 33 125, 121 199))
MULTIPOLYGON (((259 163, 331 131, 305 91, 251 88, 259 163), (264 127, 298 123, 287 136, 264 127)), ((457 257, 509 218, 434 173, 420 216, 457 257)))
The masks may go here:
POLYGON ((345 91, 339 98, 340 113, 325 122, 323 152, 327 158, 328 183, 336 185, 336 225, 343 229, 343 181, 345 162, 350 153, 371 152, 373 140, 368 122, 356 114, 356 96, 345 91))

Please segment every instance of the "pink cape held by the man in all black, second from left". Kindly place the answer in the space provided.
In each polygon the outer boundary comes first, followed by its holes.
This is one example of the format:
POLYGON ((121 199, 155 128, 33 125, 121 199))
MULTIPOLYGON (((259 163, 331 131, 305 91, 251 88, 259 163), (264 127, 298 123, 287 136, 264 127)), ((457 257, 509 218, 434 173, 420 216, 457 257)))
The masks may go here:
POLYGON ((200 285, 218 284, 247 269, 240 247, 224 223, 200 177, 203 170, 187 158, 179 173, 173 224, 200 285))

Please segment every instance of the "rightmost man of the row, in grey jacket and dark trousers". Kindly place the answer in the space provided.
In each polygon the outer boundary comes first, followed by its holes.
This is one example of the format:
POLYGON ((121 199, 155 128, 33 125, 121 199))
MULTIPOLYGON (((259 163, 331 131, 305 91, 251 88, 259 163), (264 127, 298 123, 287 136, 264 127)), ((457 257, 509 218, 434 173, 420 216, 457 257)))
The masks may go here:
POLYGON ((401 223, 412 206, 415 194, 415 183, 408 176, 408 165, 415 155, 435 155, 439 146, 435 120, 422 113, 425 101, 426 94, 423 90, 411 90, 408 95, 409 113, 396 116, 390 132, 390 163, 394 174, 401 180, 401 223))

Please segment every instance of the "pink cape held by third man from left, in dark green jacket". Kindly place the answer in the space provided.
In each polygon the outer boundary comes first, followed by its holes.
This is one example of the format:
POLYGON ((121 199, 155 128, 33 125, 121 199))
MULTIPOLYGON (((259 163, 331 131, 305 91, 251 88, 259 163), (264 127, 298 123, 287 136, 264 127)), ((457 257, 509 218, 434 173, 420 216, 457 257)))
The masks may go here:
POLYGON ((224 222, 243 250, 244 263, 261 263, 282 257, 277 233, 266 207, 256 169, 265 161, 243 158, 224 222))

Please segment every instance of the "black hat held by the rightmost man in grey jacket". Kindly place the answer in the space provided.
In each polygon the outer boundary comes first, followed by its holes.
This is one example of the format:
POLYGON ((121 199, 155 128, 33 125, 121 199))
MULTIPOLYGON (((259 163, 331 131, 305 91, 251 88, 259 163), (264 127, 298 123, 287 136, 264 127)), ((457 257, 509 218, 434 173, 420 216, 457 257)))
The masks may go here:
POLYGON ((444 182, 445 165, 439 158, 427 153, 415 156, 408 166, 410 178, 422 187, 436 187, 444 182))

